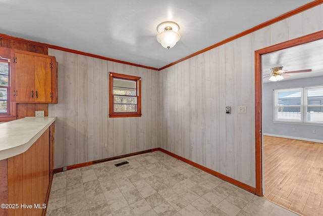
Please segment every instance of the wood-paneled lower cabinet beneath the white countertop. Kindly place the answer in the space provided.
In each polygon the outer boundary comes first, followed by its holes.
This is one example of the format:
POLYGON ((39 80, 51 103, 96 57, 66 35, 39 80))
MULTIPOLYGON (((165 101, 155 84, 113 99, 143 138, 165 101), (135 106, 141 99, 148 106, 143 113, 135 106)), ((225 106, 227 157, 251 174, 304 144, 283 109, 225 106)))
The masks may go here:
POLYGON ((8 204, 8 208, 0 209, 0 215, 45 215, 54 164, 54 134, 53 123, 27 151, 0 161, 0 201, 8 204))

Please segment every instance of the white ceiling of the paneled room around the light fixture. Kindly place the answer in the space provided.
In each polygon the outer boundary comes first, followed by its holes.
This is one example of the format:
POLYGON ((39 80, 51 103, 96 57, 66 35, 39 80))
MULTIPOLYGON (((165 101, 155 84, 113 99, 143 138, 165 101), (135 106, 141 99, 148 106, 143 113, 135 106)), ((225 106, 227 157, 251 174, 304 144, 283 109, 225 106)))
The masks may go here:
POLYGON ((0 33, 161 68, 312 0, 0 0, 0 33), (156 26, 179 24, 167 50, 156 26))

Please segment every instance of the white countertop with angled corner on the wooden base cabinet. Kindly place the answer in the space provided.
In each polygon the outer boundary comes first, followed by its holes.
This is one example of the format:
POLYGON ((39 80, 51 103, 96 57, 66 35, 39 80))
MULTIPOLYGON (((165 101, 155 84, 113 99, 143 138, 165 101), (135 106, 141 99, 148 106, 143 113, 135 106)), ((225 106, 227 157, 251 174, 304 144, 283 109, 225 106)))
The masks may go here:
POLYGON ((56 117, 26 117, 0 124, 0 160, 27 151, 56 117))

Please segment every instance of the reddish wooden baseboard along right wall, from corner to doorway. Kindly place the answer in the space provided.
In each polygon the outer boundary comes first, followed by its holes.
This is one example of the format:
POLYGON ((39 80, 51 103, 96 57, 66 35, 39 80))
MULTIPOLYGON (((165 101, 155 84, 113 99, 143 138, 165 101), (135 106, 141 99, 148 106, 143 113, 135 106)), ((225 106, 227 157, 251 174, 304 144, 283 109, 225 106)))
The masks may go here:
POLYGON ((165 149, 158 148, 158 150, 155 150, 155 151, 164 152, 165 154, 168 154, 168 155, 170 155, 172 157, 175 157, 175 158, 177 158, 177 159, 179 159, 179 160, 181 160, 181 161, 183 161, 185 163, 188 163, 188 164, 190 164, 190 165, 192 165, 192 166, 194 166, 196 168, 199 168, 199 169, 201 169, 201 170, 203 170, 203 171, 205 171, 205 172, 207 172, 207 173, 209 173, 209 174, 211 174, 213 176, 216 176, 216 177, 218 177, 218 178, 220 178, 220 179, 222 179, 222 180, 224 180, 226 182, 229 182, 229 183, 231 183, 231 184, 233 184, 235 186, 238 186, 239 188, 242 188, 244 190, 247 190, 247 191, 249 191, 249 192, 251 192, 253 194, 256 193, 256 189, 254 187, 251 187, 251 186, 249 186, 247 184, 244 184, 244 183, 239 182, 239 181, 237 181, 235 179, 232 179, 230 177, 227 177, 227 176, 225 176, 225 175, 223 175, 223 174, 221 174, 221 173, 219 173, 217 171, 214 171, 212 169, 209 169, 209 168, 207 168, 205 166, 202 166, 202 165, 200 165, 198 163, 195 163, 195 162, 193 162, 191 160, 188 160, 188 159, 186 159, 184 157, 178 156, 178 155, 176 155, 176 154, 174 154, 172 152, 169 152, 169 151, 167 151, 165 149))

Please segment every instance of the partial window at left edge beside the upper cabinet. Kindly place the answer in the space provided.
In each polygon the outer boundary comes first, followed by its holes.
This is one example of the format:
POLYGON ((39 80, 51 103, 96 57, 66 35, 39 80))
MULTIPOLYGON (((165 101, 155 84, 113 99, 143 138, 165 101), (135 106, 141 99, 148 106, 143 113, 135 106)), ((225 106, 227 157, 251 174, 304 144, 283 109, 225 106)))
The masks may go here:
POLYGON ((10 63, 0 59, 0 116, 10 115, 10 63))

